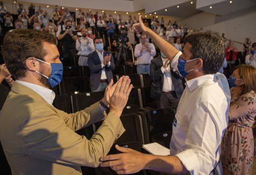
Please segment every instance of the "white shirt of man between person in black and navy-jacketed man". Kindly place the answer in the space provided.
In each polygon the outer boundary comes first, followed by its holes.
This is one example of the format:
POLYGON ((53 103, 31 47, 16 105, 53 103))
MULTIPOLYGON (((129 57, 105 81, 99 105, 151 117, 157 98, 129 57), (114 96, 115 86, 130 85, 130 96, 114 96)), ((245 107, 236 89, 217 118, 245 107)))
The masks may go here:
POLYGON ((76 40, 76 50, 78 51, 77 55, 79 56, 89 55, 95 50, 93 40, 89 37, 86 37, 86 39, 81 37, 80 39, 81 43, 78 40, 76 40), (89 44, 86 43, 86 39, 89 40, 89 44))

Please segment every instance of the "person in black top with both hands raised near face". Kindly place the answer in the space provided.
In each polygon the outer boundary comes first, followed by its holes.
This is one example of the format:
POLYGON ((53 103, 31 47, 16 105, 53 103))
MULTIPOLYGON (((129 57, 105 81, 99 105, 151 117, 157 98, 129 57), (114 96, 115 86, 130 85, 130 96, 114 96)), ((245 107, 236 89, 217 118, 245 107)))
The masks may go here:
POLYGON ((72 59, 77 59, 77 50, 76 50, 76 40, 77 34, 75 31, 72 31, 72 22, 66 21, 66 30, 61 31, 58 40, 61 40, 63 45, 63 64, 65 66, 76 65, 72 59))

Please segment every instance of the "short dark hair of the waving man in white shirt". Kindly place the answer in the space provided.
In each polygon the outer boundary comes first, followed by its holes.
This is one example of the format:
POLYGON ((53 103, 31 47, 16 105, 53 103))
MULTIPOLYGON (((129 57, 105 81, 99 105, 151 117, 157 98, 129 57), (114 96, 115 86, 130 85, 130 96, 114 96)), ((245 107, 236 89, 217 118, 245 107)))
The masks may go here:
POLYGON ((205 74, 215 74, 224 61, 225 43, 218 33, 198 32, 188 35, 185 42, 191 44, 192 58, 202 58, 205 74))

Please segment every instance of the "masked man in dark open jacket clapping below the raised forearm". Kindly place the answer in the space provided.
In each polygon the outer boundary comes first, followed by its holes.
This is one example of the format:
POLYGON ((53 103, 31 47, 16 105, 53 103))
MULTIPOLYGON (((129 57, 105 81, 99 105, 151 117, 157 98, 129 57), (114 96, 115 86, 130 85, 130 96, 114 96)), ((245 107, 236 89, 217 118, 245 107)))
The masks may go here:
POLYGON ((157 107, 171 106, 176 110, 184 87, 177 71, 171 68, 170 61, 161 52, 161 56, 151 60, 150 77, 152 86, 150 96, 156 100, 157 107))

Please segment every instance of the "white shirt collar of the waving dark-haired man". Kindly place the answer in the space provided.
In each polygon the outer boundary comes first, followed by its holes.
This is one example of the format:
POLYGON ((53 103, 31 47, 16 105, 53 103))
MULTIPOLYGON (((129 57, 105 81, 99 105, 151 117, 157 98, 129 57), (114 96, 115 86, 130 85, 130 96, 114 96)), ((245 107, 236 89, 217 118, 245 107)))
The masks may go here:
POLYGON ((185 83, 185 85, 186 85, 186 87, 188 87, 189 91, 192 92, 197 87, 204 84, 205 82, 214 81, 215 75, 216 74, 207 74, 207 75, 203 75, 203 76, 200 76, 200 77, 197 77, 197 78, 193 78, 191 80, 188 80, 185 83))

